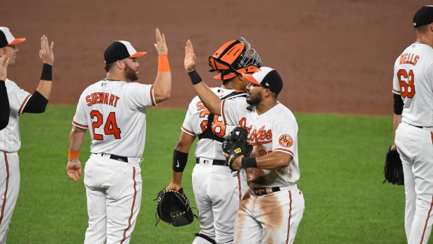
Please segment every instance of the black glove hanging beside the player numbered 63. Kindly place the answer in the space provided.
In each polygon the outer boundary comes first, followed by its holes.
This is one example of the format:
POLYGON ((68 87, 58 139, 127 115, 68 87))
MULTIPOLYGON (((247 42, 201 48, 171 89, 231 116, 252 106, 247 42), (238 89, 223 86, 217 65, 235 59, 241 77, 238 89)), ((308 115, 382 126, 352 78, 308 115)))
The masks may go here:
POLYGON ((402 159, 400 159, 397 150, 391 150, 390 148, 388 149, 388 152, 386 152, 383 173, 385 174, 383 184, 388 180, 392 185, 404 185, 402 159))

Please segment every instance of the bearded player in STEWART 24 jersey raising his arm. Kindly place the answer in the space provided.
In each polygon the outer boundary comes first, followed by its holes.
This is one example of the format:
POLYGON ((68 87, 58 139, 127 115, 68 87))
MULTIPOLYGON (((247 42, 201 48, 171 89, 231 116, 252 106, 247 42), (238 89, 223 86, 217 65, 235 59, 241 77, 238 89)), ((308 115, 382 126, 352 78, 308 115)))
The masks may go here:
POLYGON ((140 210, 140 162, 145 147, 146 108, 170 97, 171 73, 165 36, 156 29, 158 73, 154 85, 138 80, 137 52, 115 41, 104 52, 106 78, 82 92, 69 136, 67 173, 81 176, 78 155, 89 129, 91 156, 85 166, 89 227, 85 243, 129 243, 140 210))

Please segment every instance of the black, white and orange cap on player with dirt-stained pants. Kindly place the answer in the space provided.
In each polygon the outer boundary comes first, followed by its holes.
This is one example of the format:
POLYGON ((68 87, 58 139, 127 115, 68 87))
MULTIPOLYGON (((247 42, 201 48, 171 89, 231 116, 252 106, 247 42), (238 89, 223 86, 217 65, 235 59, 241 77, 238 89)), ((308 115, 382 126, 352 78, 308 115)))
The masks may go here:
POLYGON ((283 89, 283 80, 281 80, 281 76, 279 76, 279 73, 276 70, 270 67, 261 67, 252 74, 242 73, 242 76, 251 83, 270 89, 271 92, 274 92, 277 95, 281 92, 281 89, 283 89))

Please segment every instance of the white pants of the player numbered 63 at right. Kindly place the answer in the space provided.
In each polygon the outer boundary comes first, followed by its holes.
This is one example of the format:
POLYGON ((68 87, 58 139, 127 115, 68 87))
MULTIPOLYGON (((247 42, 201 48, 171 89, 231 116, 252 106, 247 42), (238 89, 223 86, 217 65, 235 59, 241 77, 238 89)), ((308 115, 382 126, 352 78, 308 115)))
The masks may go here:
POLYGON ((404 228, 409 244, 427 243, 433 222, 433 134, 405 122, 395 131, 403 163, 406 208, 404 228))

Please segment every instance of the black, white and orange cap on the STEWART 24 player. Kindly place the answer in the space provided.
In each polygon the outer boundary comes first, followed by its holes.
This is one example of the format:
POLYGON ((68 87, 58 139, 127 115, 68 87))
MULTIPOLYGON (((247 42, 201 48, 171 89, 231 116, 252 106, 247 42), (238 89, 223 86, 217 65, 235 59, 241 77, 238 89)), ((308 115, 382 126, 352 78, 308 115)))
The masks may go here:
POLYGON ((133 59, 134 57, 140 57, 146 53, 147 52, 137 52, 129 41, 115 41, 105 49, 104 60, 105 64, 111 64, 117 60, 126 59, 127 57, 133 59))

